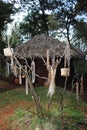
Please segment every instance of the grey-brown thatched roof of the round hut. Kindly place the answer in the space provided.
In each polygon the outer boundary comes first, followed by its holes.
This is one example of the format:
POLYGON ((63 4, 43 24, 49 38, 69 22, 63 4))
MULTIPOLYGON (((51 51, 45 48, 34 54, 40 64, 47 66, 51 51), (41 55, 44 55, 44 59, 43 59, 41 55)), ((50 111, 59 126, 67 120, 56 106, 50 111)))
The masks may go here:
MULTIPOLYGON (((33 37, 32 40, 18 45, 15 52, 23 57, 45 57, 47 49, 54 52, 56 57, 61 57, 64 53, 66 44, 54 39, 48 35, 41 34, 33 37)), ((84 53, 80 50, 71 47, 71 57, 84 57, 84 53)))

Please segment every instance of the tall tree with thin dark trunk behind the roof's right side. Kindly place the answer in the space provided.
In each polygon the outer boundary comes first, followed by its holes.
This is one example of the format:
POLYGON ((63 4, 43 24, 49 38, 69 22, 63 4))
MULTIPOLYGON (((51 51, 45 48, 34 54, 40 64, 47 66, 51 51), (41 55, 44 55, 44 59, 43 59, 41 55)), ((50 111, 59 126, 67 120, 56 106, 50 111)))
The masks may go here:
MULTIPOLYGON (((60 4, 56 9, 54 9, 55 20, 57 20, 57 29, 58 29, 58 36, 67 38, 70 44, 73 44, 78 40, 77 35, 74 35, 74 30, 79 31, 80 38, 83 38, 80 29, 83 30, 87 28, 87 24, 83 18, 86 16, 86 4, 87 1, 80 1, 80 0, 64 0, 60 1, 60 4), (85 3, 84 3, 85 2, 85 3), (81 8, 83 7, 83 8, 81 8), (85 10, 85 11, 84 11, 85 10), (55 13, 56 12, 56 13, 55 13), (83 20, 83 26, 81 26, 81 21, 83 20), (79 26, 80 25, 80 26, 79 26), (75 40, 74 40, 75 39, 75 40), (77 40, 76 40, 77 39, 77 40)), ((86 37, 85 37, 86 39, 86 37)))

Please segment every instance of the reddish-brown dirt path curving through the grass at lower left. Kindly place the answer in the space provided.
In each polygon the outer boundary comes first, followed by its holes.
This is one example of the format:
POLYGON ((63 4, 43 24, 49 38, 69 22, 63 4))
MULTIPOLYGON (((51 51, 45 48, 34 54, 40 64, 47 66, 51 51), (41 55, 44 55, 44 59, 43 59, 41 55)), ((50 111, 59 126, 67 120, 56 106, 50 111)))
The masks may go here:
POLYGON ((18 102, 16 104, 9 104, 0 109, 0 130, 6 130, 8 127, 7 119, 15 112, 17 108, 33 107, 32 102, 18 102))

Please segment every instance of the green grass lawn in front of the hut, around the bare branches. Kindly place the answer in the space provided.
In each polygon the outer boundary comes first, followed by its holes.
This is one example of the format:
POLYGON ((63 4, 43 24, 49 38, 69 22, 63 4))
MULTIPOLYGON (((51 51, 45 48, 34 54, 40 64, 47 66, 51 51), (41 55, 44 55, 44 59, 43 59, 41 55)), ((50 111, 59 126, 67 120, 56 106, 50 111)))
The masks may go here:
MULTIPOLYGON (((43 130, 49 130, 51 128, 52 130, 60 130, 60 127, 61 130, 80 130, 79 124, 83 124, 84 130, 86 130, 85 126, 87 127, 87 120, 85 120, 84 115, 87 114, 87 104, 81 100, 77 101, 75 94, 68 91, 65 92, 63 100, 63 119, 61 122, 59 111, 61 99, 60 93, 62 92, 62 89, 57 88, 49 111, 47 110, 49 101, 49 98, 47 98, 48 89, 46 87, 37 87, 35 88, 35 91, 38 95, 40 95, 44 118, 37 118, 34 107, 31 109, 30 107, 25 109, 19 107, 15 109, 14 114, 8 119, 8 130, 12 130, 12 128, 14 128, 14 130, 17 128, 22 128, 21 130, 28 130, 30 126, 34 130, 34 128, 36 126, 40 126, 40 124, 42 124, 41 127, 43 127, 43 125, 46 126, 43 130)), ((0 93, 0 108, 4 108, 5 106, 11 104, 17 104, 20 101, 32 102, 31 94, 29 93, 29 95, 26 95, 25 88, 23 87, 0 93)))

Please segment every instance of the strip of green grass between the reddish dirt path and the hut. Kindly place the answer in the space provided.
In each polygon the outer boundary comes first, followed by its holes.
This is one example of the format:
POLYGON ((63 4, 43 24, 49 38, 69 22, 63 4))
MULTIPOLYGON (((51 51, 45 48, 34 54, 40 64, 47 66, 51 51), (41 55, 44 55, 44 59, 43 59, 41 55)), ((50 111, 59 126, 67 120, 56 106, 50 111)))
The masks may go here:
POLYGON ((4 107, 10 103, 16 103, 18 101, 31 101, 32 98, 30 96, 26 96, 25 89, 19 88, 10 91, 6 91, 5 93, 1 93, 0 95, 0 106, 4 107))

